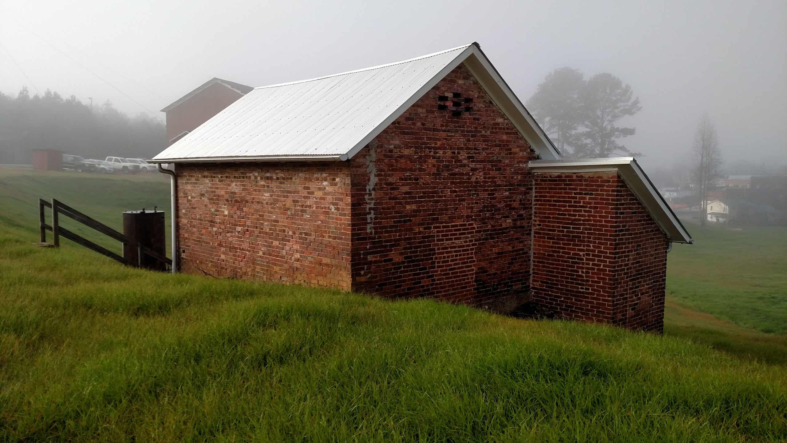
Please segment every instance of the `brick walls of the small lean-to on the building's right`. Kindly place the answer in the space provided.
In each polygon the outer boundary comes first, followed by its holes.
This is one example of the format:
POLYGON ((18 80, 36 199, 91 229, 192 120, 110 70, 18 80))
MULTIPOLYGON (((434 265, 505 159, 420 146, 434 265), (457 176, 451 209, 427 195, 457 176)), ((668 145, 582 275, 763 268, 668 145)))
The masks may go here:
POLYGON ((667 240, 623 179, 534 177, 534 300, 566 318, 661 332, 667 240))

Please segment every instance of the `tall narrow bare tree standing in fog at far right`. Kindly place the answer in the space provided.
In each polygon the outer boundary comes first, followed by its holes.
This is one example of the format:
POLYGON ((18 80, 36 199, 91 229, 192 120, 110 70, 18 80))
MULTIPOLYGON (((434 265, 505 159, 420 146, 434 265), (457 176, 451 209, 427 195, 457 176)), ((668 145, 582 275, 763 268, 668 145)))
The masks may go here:
POLYGON ((722 166, 722 151, 719 149, 719 136, 716 128, 704 114, 696 127, 694 136, 694 155, 696 157, 696 177, 700 194, 700 224, 708 221, 708 192, 713 182, 719 178, 722 166))

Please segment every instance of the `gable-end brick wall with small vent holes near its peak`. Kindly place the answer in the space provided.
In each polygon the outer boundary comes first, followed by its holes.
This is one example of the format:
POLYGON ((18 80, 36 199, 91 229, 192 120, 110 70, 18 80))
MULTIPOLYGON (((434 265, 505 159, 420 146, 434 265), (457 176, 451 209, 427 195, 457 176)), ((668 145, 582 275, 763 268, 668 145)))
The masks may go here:
POLYGON ((454 69, 351 160, 353 289, 475 305, 527 291, 533 158, 454 69))

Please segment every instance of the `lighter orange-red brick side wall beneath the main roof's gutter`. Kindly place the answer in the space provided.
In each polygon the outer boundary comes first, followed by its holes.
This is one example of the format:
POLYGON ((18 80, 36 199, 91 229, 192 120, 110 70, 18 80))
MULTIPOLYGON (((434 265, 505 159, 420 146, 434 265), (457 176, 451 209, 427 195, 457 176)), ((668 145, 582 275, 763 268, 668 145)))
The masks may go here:
POLYGON ((180 268, 350 289, 349 165, 183 164, 180 268))

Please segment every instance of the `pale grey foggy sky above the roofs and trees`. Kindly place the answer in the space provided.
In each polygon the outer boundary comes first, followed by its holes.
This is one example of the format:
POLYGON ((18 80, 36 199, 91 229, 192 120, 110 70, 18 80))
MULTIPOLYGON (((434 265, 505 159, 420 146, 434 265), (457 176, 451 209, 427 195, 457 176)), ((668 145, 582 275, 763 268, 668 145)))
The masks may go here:
POLYGON ((726 158, 784 163, 785 28, 785 0, 0 0, 0 91, 50 88, 163 119, 213 76, 263 86, 477 41, 523 102, 560 66, 630 84, 643 110, 623 143, 645 164, 685 154, 704 112, 726 158))

